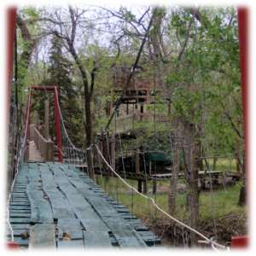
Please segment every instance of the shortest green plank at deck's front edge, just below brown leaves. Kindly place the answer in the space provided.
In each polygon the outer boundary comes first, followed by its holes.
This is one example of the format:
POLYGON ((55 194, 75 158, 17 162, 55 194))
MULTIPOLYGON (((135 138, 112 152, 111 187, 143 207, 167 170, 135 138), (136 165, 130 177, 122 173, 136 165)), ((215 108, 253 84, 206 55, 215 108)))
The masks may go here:
POLYGON ((84 240, 66 240, 57 241, 58 243, 58 255, 85 255, 84 240))

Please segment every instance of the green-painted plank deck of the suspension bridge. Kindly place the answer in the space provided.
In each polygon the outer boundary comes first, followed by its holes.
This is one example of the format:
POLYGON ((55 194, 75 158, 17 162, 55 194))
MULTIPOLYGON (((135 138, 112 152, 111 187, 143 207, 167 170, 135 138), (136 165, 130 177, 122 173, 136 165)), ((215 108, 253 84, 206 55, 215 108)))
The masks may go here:
MULTIPOLYGON (((28 254, 169 254, 122 204, 58 162, 24 163, 9 212, 15 241, 28 254)), ((5 218, 2 239, 10 240, 5 218)))

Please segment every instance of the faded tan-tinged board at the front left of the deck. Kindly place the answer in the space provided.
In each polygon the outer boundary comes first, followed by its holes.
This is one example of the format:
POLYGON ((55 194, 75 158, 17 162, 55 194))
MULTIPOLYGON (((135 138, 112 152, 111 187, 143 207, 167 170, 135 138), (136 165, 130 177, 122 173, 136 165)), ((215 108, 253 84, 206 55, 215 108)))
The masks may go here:
POLYGON ((55 224, 35 224, 32 226, 28 254, 57 254, 55 224))

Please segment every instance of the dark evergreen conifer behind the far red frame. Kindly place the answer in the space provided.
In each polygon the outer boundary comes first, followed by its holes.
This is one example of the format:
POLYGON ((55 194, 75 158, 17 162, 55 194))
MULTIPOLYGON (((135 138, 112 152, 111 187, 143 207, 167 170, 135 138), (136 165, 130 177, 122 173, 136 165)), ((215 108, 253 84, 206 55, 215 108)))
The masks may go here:
MULTIPOLYGON (((81 131, 84 130, 81 122, 82 113, 79 108, 79 94, 73 84, 73 63, 67 60, 61 51, 61 42, 53 38, 49 57, 49 79, 42 82, 42 86, 58 85, 59 103, 67 134, 71 141, 77 145, 83 145, 81 131)), ((49 99, 49 134, 55 138, 55 103, 52 92, 38 91, 34 97, 33 107, 38 110, 39 119, 44 120, 44 101, 49 99)))

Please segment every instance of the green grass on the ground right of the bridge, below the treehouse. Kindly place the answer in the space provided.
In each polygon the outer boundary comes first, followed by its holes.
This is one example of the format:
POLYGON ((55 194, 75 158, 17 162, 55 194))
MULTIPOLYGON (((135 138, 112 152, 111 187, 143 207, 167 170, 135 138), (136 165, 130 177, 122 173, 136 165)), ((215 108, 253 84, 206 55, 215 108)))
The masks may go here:
MULTIPOLYGON (((102 186, 102 179, 99 179, 99 185, 102 186)), ((106 178, 103 177, 103 184, 105 186, 106 178)), ((130 185, 137 189, 137 182, 127 180, 130 185)), ((169 184, 170 181, 162 181, 161 185, 169 184)), ((158 183, 158 186, 160 183, 158 183)), ((152 188, 152 181, 148 183, 148 187, 152 188)), ((104 188, 104 187, 103 187, 104 188)), ((149 221, 150 216, 155 221, 155 207, 148 199, 143 198, 141 195, 137 195, 135 192, 132 194, 131 189, 128 189, 125 183, 117 178, 109 178, 106 183, 106 189, 109 195, 114 199, 121 202, 127 207, 130 212, 141 218, 144 221, 149 221), (150 205, 150 207, 149 207, 150 205)), ((237 205, 241 186, 239 183, 236 185, 226 187, 225 189, 218 188, 213 190, 213 204, 216 218, 224 218, 226 216, 235 215, 238 213, 247 213, 247 205, 239 207, 237 205)), ((153 195, 149 194, 151 198, 156 201, 156 204, 168 212, 168 194, 153 195)), ((200 198, 200 220, 204 222, 211 222, 213 220, 212 213, 212 199, 210 190, 201 190, 200 198)), ((176 212, 173 214, 174 218, 183 220, 189 219, 189 209, 186 208, 186 193, 178 194, 176 198, 176 212)), ((157 210, 156 217, 160 222, 168 222, 168 218, 160 211, 157 210)))

